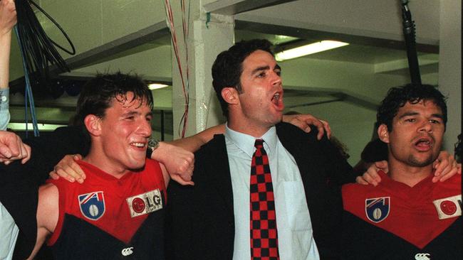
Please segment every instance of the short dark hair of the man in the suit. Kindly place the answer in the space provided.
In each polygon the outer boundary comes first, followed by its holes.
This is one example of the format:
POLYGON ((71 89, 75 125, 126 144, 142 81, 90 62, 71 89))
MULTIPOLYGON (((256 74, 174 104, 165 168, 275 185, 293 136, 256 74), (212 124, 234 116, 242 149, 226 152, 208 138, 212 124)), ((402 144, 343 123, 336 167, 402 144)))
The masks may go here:
POLYGON ((239 93, 242 92, 239 77, 243 72, 243 61, 256 50, 264 50, 274 55, 271 52, 269 40, 242 40, 217 55, 212 65, 212 86, 214 86, 225 117, 228 117, 228 104, 222 98, 222 90, 225 87, 234 87, 239 93))

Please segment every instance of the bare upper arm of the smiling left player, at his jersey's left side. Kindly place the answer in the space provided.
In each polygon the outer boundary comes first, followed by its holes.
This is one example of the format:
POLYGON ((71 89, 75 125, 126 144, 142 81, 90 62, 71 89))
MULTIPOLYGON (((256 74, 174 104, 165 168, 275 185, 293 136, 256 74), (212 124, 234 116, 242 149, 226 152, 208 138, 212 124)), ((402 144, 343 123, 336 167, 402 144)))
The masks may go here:
POLYGON ((31 256, 33 259, 38 250, 42 247, 47 237, 54 232, 58 223, 58 188, 47 183, 38 188, 38 205, 37 205, 37 240, 31 256))

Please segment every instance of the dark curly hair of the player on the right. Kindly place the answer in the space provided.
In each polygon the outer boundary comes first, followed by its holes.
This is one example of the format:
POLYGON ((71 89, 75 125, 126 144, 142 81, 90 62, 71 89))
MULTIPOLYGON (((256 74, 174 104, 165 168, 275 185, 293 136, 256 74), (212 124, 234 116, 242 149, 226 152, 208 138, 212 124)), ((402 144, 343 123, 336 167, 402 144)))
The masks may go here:
POLYGON ((392 87, 378 109, 378 124, 385 124, 387 131, 392 131, 392 119, 405 103, 417 104, 421 100, 432 101, 442 110, 444 126, 447 124, 447 104, 444 95, 432 85, 412 85, 392 87))

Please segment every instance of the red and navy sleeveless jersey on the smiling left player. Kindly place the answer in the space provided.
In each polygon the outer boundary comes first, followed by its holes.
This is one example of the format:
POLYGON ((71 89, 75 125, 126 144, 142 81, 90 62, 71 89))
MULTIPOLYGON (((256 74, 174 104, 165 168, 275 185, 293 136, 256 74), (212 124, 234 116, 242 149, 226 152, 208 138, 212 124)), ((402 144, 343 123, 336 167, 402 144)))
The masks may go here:
POLYGON ((64 178, 58 188, 59 216, 48 239, 56 259, 164 259, 165 183, 157 161, 115 178, 78 161, 83 185, 64 178), (80 245, 80 246, 76 246, 80 245))

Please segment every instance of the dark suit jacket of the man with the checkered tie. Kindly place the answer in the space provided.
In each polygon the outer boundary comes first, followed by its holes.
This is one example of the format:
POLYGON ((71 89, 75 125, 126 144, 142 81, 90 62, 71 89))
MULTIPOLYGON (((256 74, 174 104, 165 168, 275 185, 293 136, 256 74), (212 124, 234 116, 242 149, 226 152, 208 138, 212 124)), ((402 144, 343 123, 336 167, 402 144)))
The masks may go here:
MULTIPOLYGON (((338 259, 342 199, 340 185, 355 179, 352 168, 316 129, 306 134, 291 124, 276 125, 283 146, 301 172, 321 259, 338 259)), ((195 153, 194 186, 170 183, 167 189, 168 259, 232 259, 233 192, 223 135, 195 153)))

